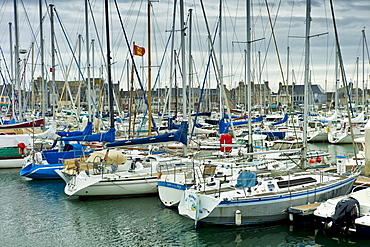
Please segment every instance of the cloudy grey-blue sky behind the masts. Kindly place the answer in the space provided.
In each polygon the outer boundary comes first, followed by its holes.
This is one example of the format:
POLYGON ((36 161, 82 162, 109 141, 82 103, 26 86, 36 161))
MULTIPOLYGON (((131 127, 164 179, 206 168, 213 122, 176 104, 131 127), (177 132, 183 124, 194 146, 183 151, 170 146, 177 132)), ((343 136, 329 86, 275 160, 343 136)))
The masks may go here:
MULTIPOLYGON (((205 85, 215 88, 218 78, 218 74, 215 72, 216 60, 217 64, 222 65, 222 82, 227 88, 231 89, 240 81, 245 81, 245 51, 247 49, 245 2, 245 0, 203 0, 204 15, 200 0, 184 0, 186 48, 185 68, 183 68, 179 0, 176 2, 176 11, 174 11, 174 0, 150 2, 150 47, 148 45, 149 2, 147 0, 117 0, 117 10, 115 1, 110 0, 109 20, 113 83, 119 82, 121 88, 128 89, 132 64, 128 47, 132 47, 133 42, 146 49, 146 54, 143 57, 134 56, 138 75, 144 88, 148 84, 149 52, 151 54, 151 84, 155 87, 163 88, 175 84, 181 87, 181 73, 185 71, 186 85, 191 82, 193 87, 205 85), (222 6, 221 18, 219 17, 220 3, 222 6), (191 22, 190 9, 192 9, 191 22), (172 34, 174 16, 175 32, 172 49, 170 35, 172 34), (221 22, 219 22, 220 20, 221 22), (210 63, 209 70, 207 70, 207 64, 211 45, 206 23, 210 36, 214 39, 215 54, 215 60, 210 63), (220 26, 221 28, 219 28, 220 26), (126 34, 127 40, 124 34, 126 34), (191 44, 191 48, 189 44, 191 44), (173 59, 176 61, 173 61, 171 66, 171 57, 175 57, 174 53, 177 54, 177 59, 173 59), (190 54, 192 59, 189 59, 190 54), (191 77, 189 76, 190 64, 191 77)), ((88 3, 89 41, 87 42, 84 0, 42 0, 44 70, 47 79, 51 78, 50 67, 52 64, 50 4, 53 4, 55 9, 56 67, 54 71, 56 80, 78 80, 87 76, 87 45, 90 53, 90 75, 107 78, 104 1, 89 0, 88 3)), ((360 88, 366 87, 369 78, 369 57, 367 48, 365 48, 365 56, 363 56, 362 47, 363 37, 365 36, 367 39, 367 27, 370 26, 370 18, 368 18, 370 3, 368 0, 333 0, 332 3, 346 80, 353 82, 355 86, 360 88), (358 66, 356 66, 357 60, 358 66)), ((28 81, 41 75, 39 1, 18 0, 17 9, 19 48, 28 51, 26 54, 20 54, 22 83, 29 85, 28 81), (32 43, 34 44, 33 53, 32 43), (26 69, 23 73, 24 64, 26 64, 26 69)), ((16 44, 14 13, 13 1, 3 1, 0 4, 0 66, 5 81, 9 81, 10 72, 8 71, 11 70, 9 22, 13 23, 12 47, 15 47, 16 44)), ((336 39, 330 1, 311 1, 310 23, 310 81, 312 84, 321 85, 325 91, 332 92, 335 89, 336 81, 336 39)), ((279 82, 303 84, 305 34, 305 0, 252 0, 251 79, 255 83, 268 81, 274 92, 277 91, 279 82), (281 65, 279 66, 279 64, 281 65)), ((139 88, 137 77, 135 77, 134 85, 139 88)))

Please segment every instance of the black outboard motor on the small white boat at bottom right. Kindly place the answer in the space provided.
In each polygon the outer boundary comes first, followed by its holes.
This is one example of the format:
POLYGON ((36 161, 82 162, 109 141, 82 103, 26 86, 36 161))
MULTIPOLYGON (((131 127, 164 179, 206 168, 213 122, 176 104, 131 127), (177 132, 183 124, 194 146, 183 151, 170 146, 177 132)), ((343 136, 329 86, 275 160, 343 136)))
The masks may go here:
POLYGON ((355 227, 355 219, 360 214, 360 203, 352 197, 339 201, 335 207, 332 222, 328 226, 333 233, 347 235, 349 228, 355 227))

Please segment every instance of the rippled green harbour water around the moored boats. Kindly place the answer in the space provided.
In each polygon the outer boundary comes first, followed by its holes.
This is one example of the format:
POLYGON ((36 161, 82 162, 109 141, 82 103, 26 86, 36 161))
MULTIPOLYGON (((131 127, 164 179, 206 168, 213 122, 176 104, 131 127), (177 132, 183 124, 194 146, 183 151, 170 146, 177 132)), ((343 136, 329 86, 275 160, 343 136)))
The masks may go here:
MULTIPOLYGON (((348 147, 331 149, 334 157, 351 153, 348 147)), ((332 240, 310 224, 195 229, 192 220, 165 208, 157 196, 80 200, 65 195, 64 185, 25 179, 19 169, 0 169, 0 245, 370 246, 366 239, 332 240)))

